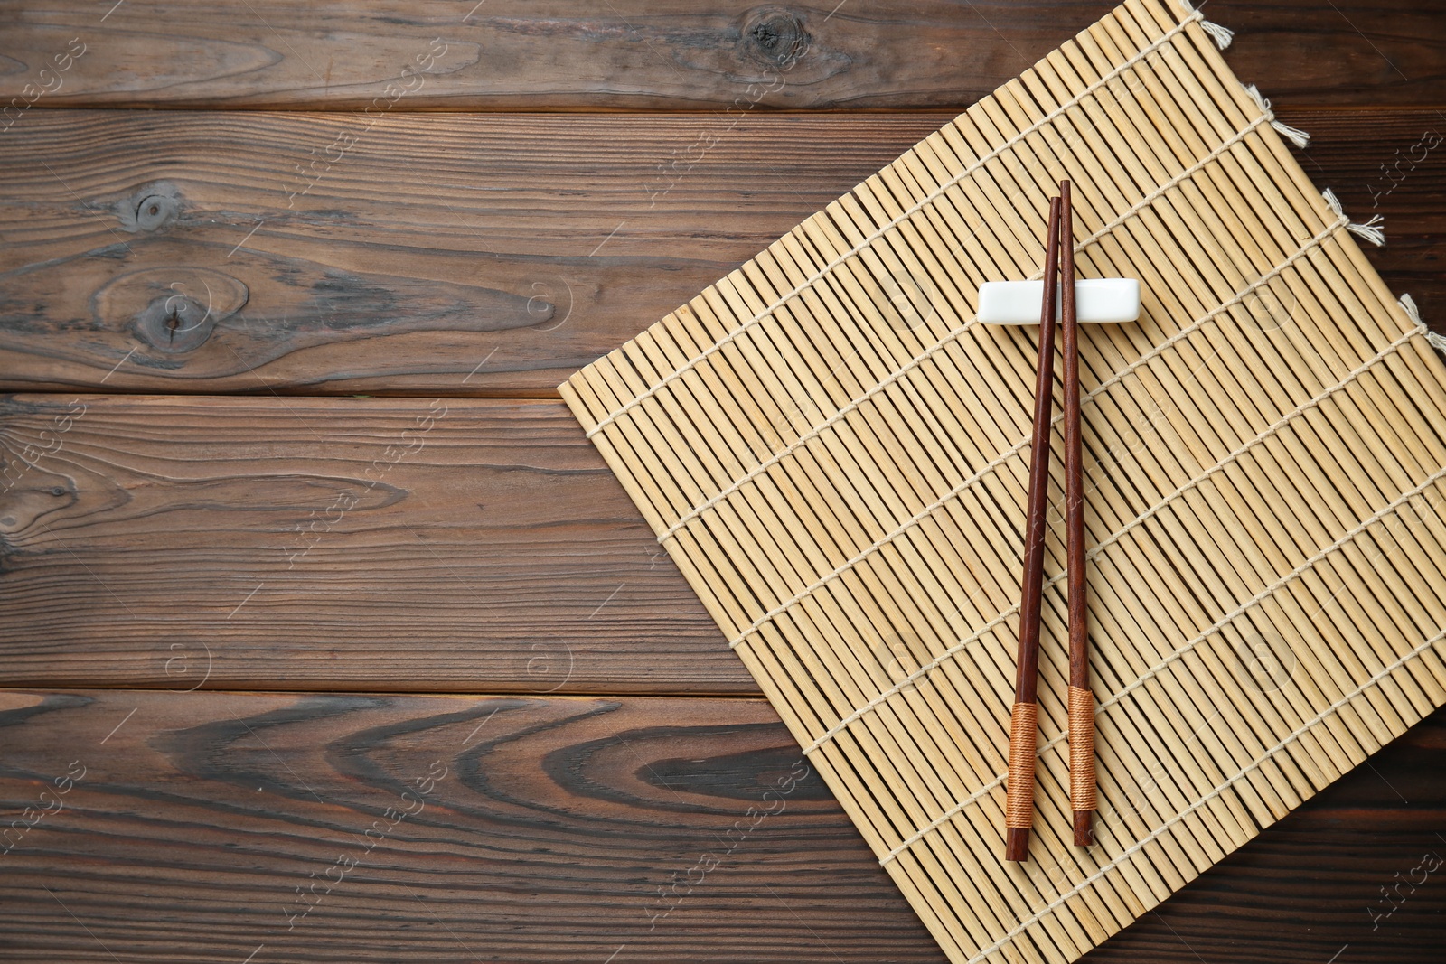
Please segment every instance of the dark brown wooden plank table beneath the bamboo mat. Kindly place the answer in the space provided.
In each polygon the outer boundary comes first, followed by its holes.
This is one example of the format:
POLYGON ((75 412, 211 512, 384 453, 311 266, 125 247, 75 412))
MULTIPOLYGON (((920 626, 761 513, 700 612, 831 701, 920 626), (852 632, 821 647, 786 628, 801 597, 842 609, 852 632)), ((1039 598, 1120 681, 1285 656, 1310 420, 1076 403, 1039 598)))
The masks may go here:
MULTIPOLYGON (((941 961, 554 386, 1109 6, 0 4, 0 957, 941 961)), ((1446 318, 1442 0, 1209 13, 1446 318)), ((1443 857, 1437 713, 1089 960, 1443 857)))

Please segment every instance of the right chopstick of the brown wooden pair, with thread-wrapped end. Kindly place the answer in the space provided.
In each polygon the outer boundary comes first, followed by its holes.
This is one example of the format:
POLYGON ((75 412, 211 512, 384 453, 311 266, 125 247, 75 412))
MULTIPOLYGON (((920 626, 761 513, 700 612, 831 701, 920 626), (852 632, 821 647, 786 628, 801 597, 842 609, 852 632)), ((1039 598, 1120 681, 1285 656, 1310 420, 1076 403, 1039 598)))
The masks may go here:
POLYGON ((1074 311, 1074 224, 1070 182, 1060 182, 1060 334, 1064 354, 1064 535, 1070 590, 1070 809, 1074 845, 1095 843, 1095 692, 1089 687, 1084 581, 1084 471, 1080 452, 1079 319, 1074 311))

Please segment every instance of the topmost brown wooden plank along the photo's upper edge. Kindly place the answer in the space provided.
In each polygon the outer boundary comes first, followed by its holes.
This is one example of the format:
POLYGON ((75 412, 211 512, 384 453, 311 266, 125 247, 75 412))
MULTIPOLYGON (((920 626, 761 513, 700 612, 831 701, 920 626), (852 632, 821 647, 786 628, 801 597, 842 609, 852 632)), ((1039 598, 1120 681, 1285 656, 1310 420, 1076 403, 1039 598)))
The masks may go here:
MULTIPOLYGON (((723 108, 740 100, 959 110, 1113 6, 169 0, 36 9, 7 0, 0 100, 375 111, 723 108)), ((1216 0, 1209 16, 1238 32, 1235 71, 1280 95, 1336 106, 1446 100, 1446 25, 1433 4, 1216 0)))

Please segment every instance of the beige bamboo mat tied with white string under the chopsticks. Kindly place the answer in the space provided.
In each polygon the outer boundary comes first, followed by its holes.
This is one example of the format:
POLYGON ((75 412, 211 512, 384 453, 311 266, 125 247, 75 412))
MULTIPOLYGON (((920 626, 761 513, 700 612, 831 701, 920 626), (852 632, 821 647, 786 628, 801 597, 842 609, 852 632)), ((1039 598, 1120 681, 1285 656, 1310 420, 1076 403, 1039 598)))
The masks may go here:
POLYGON ((1073 961, 1446 701, 1446 370, 1226 39, 1125 3, 561 386, 951 961, 1073 961), (973 308, 1060 178, 1144 312, 1080 331, 1098 843, 1056 452, 1009 864, 1038 330, 973 308))

